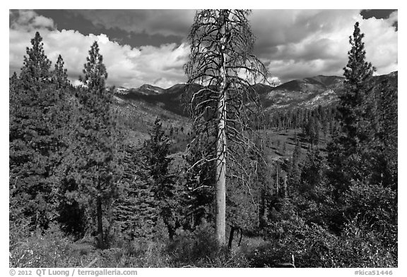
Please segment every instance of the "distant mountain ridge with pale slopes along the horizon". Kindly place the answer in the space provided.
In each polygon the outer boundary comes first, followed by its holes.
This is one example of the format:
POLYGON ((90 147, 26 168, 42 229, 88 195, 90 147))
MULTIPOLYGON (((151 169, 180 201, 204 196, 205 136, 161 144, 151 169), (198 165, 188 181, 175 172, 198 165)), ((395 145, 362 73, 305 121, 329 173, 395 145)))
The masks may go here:
MULTIPOLYGON (((374 85, 377 85, 383 80, 389 80, 394 85, 397 83, 397 78, 398 72, 394 71, 387 75, 374 76, 373 82, 374 85)), ((345 78, 339 76, 318 75, 285 82, 277 87, 256 84, 254 90, 259 94, 261 106, 265 112, 293 107, 313 109, 319 105, 327 106, 338 101, 338 93, 343 87, 344 80, 345 78)), ((122 103, 125 101, 143 101, 160 106, 172 113, 187 116, 185 106, 182 104, 182 94, 186 87, 185 84, 177 84, 163 89, 145 84, 131 89, 117 87, 114 89, 114 93, 122 103)), ((199 85, 195 85, 193 90, 198 90, 199 87, 199 85)))

